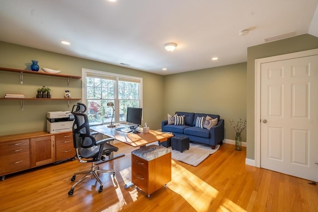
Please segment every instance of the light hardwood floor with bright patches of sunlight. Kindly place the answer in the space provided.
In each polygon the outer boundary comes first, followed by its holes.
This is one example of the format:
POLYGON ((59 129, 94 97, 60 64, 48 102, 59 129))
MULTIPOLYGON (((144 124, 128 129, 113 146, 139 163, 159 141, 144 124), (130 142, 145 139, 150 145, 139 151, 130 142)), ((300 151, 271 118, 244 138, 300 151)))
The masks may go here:
MULTIPOLYGON (((115 143, 126 156, 100 164, 114 168, 99 184, 86 179, 68 196, 74 172, 90 164, 68 161, 9 175, 0 182, 1 212, 317 212, 318 185, 310 181, 245 165, 246 148, 223 144, 197 167, 172 160, 172 181, 150 198, 132 187, 131 154, 135 148, 115 143)), ((79 179, 80 176, 77 177, 79 179)))

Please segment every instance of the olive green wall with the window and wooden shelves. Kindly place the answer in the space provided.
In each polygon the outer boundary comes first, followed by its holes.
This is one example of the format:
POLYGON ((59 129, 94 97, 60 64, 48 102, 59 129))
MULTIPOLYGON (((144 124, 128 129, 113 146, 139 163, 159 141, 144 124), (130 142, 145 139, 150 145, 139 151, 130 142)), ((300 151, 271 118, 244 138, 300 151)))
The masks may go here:
MULTIPOLYGON (((81 69, 85 68, 142 77, 144 122, 151 129, 161 128, 164 76, 0 42, 0 67, 30 70, 31 60, 39 61, 40 69, 61 70, 61 74, 81 76, 81 69)), ((23 79, 20 84, 18 72, 0 71, 0 97, 5 93, 24 93, 32 98, 37 88, 45 85, 52 89, 52 98, 64 98, 64 90, 71 90, 73 98, 81 98, 81 79, 71 79, 69 87, 67 78, 62 77, 26 73, 23 79)), ((0 136, 45 131, 47 111, 70 111, 71 107, 67 101, 25 100, 21 111, 19 100, 0 100, 0 136)))

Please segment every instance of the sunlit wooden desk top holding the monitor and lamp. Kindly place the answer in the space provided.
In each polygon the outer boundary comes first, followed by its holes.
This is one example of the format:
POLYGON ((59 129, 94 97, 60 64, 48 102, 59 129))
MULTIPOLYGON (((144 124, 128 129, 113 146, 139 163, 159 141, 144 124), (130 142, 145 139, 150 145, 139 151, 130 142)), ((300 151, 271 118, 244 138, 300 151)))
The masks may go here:
MULTIPOLYGON (((116 128, 117 127, 122 127, 122 125, 116 125, 116 128)), ((108 128, 107 125, 99 125, 90 127, 90 130, 134 147, 143 146, 155 141, 167 141, 168 138, 173 137, 172 134, 162 133, 154 130, 150 130, 149 133, 143 133, 141 131, 138 134, 131 134, 118 131, 116 128, 108 128)))

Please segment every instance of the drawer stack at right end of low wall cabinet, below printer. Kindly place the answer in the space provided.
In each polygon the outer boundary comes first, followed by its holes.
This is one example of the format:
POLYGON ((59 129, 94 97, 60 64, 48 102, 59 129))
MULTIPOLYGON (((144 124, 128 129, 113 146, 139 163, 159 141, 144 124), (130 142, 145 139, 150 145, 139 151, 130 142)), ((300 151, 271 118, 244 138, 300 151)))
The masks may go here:
POLYGON ((56 160, 65 160, 75 156, 72 132, 56 135, 56 160))

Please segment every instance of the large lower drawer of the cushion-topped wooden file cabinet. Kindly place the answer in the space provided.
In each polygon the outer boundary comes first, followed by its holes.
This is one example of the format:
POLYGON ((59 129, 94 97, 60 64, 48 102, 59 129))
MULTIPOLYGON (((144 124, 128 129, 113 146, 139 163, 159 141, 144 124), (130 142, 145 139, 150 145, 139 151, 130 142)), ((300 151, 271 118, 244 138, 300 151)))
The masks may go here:
POLYGON ((132 164, 132 183, 144 191, 148 191, 148 171, 136 163, 132 164))

